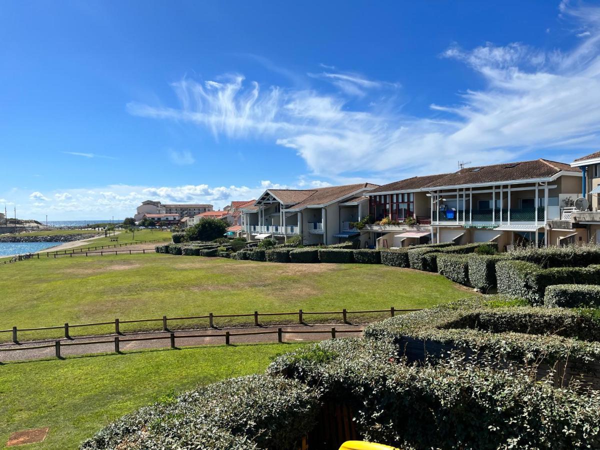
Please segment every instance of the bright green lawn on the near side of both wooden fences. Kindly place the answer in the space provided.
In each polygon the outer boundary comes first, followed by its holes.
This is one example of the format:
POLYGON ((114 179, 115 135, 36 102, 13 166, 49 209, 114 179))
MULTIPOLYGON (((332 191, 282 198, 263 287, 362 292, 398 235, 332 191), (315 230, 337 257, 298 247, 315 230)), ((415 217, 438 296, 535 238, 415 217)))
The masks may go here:
POLYGON ((0 365, 0 445, 14 431, 50 427, 43 443, 26 448, 75 449, 119 416, 196 385, 262 372, 272 356, 299 345, 153 350, 0 365))

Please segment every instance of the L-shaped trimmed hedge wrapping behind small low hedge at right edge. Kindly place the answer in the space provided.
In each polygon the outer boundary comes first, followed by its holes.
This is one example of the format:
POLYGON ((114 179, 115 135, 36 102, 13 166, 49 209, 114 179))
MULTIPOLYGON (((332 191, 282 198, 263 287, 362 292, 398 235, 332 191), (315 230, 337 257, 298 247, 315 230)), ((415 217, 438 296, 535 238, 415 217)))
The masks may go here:
POLYGON ((498 292, 527 299, 532 305, 544 303, 545 290, 554 284, 600 284, 600 265, 542 269, 526 261, 496 263, 498 292))

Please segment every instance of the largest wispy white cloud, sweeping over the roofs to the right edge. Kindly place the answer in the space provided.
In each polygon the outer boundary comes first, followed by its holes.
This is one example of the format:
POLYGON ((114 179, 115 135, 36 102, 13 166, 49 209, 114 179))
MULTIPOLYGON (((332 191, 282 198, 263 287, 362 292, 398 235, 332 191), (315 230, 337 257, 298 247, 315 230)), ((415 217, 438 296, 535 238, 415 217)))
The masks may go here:
MULTIPOLYGON (((130 103, 133 115, 187 121, 215 137, 266 137, 293 149, 314 176, 398 179, 448 170, 470 160, 494 163, 544 149, 576 155, 600 146, 600 8, 560 5, 562 20, 581 36, 572 49, 546 52, 524 43, 475 49, 452 44, 443 58, 466 64, 484 88, 466 89, 455 104, 431 104, 428 116, 399 113, 399 105, 367 102, 389 83, 326 68, 315 75, 340 85, 318 89, 262 88, 236 74, 204 83, 174 83, 180 107, 130 103), (364 100, 367 100, 365 98, 364 100)), ((448 62, 452 64, 452 62, 448 62)))

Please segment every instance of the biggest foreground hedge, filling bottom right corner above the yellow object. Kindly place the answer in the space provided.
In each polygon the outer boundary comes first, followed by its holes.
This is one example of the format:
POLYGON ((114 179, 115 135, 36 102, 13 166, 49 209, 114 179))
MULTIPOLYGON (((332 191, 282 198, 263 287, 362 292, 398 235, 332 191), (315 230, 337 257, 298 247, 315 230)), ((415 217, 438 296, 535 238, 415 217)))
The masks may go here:
POLYGON ((526 370, 459 358, 393 364, 389 350, 360 340, 324 341, 269 368, 301 380, 323 401, 349 404, 369 442, 418 449, 572 449, 600 446, 600 396, 554 389, 526 370))

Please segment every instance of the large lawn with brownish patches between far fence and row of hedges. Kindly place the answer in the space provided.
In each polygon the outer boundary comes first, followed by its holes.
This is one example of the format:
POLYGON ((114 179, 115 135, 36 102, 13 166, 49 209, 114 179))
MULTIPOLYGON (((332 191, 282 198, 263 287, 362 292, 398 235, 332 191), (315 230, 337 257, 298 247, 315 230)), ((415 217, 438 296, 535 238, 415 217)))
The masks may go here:
MULTIPOLYGON (((160 318, 163 314, 374 310, 392 305, 427 308, 473 295, 441 275, 384 265, 278 264, 158 253, 35 259, 0 266, 0 274, 0 329, 105 322, 115 317, 160 318)), ((366 318, 349 316, 350 320, 366 318)), ((286 316, 273 320, 281 323, 283 319, 286 316)), ((305 317, 308 322, 317 319, 305 317)), ((241 320, 217 319, 215 323, 241 320)), ((160 325, 136 324, 136 329, 160 325)), ((170 322, 173 328, 191 325, 206 326, 208 320, 170 322)), ((121 329, 131 331, 133 325, 121 329)), ((72 334, 112 331, 104 326, 73 329, 72 334)), ((19 338, 60 333, 23 332, 19 338)), ((9 339, 9 333, 0 335, 0 340, 9 339)))

